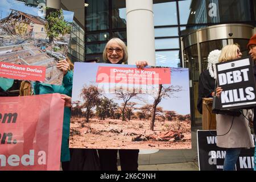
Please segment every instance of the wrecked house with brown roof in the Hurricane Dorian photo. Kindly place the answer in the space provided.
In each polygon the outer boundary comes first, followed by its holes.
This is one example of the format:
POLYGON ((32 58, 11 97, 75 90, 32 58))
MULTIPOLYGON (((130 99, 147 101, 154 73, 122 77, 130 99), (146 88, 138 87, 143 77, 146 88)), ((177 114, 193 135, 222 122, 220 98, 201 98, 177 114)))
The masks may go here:
POLYGON ((45 39, 46 30, 44 25, 46 20, 39 16, 23 13, 22 11, 10 9, 11 13, 0 21, 1 28, 7 34, 13 35, 34 35, 36 39, 45 39))

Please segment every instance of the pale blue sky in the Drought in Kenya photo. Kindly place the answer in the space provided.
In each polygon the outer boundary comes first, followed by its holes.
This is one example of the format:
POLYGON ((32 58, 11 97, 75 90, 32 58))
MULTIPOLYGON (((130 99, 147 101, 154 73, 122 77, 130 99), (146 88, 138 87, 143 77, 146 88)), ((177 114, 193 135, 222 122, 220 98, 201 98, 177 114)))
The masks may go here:
MULTIPOLYGON (((72 91, 72 101, 77 101, 82 99, 80 98, 80 93, 82 87, 90 85, 90 83, 95 84, 96 73, 99 66, 106 67, 127 67, 127 65, 114 65, 114 64, 93 64, 93 63, 75 63, 75 71, 73 76, 73 91, 72 91)), ((135 65, 129 65, 130 68, 135 68, 135 65)), ((164 110, 175 110, 179 114, 189 114, 190 113, 190 100, 189 100, 189 78, 188 78, 188 69, 180 68, 181 71, 171 71, 171 85, 179 85, 182 87, 180 92, 174 94, 175 98, 162 99, 158 106, 163 107, 164 110)), ((163 85, 168 86, 168 85, 163 85)), ((115 94, 105 94, 106 97, 113 99, 114 102, 121 104, 122 101, 118 100, 115 94)), ((151 96, 148 94, 139 94, 147 104, 153 104, 151 96)), ((145 104, 143 101, 138 101, 131 99, 130 102, 137 102, 136 107, 141 107, 145 104)))

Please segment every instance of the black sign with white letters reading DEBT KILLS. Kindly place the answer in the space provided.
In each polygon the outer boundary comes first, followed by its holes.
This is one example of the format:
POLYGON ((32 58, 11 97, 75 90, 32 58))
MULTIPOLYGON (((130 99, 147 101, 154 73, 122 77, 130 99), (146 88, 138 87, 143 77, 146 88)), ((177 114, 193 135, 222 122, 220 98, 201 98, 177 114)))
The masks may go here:
POLYGON ((217 83, 223 91, 220 109, 256 106, 253 61, 250 57, 216 64, 217 83))

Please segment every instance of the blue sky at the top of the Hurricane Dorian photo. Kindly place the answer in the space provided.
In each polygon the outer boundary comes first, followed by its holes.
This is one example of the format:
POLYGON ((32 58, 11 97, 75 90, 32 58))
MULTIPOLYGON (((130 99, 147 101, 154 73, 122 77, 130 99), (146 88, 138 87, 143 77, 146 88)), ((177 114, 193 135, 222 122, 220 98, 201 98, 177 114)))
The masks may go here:
MULTIPOLYGON (((25 6, 25 3, 15 0, 0 0, 0 18, 6 18, 11 13, 10 9, 22 11, 27 14, 39 16, 38 7, 25 6)), ((72 11, 63 10, 66 22, 73 22, 74 13, 72 11)))

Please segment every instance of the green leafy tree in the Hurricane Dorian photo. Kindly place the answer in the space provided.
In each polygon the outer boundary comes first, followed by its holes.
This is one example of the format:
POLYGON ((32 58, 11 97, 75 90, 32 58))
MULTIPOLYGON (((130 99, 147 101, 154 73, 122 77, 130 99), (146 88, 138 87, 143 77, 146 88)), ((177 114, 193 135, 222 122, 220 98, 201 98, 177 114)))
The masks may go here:
POLYGON ((47 30, 49 44, 53 43, 53 38, 57 38, 59 35, 69 34, 71 32, 71 26, 65 22, 62 9, 57 10, 46 7, 46 20, 47 23, 45 28, 47 30))

